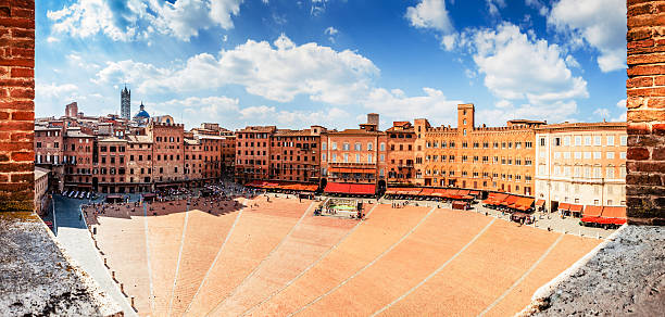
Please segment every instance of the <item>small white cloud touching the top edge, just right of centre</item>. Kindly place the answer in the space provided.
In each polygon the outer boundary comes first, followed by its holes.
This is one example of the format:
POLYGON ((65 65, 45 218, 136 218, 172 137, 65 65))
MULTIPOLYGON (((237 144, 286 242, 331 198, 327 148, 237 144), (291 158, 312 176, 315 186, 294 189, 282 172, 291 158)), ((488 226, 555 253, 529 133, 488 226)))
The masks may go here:
POLYGON ((404 16, 418 28, 434 28, 443 34, 454 30, 443 0, 422 0, 416 7, 406 8, 404 16))

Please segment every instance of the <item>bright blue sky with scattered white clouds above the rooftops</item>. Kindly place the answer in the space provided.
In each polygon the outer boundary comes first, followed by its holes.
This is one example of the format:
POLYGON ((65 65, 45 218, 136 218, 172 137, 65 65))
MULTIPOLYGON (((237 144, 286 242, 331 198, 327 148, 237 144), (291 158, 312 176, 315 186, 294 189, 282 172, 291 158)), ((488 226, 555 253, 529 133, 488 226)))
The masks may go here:
POLYGON ((623 0, 37 1, 36 112, 188 128, 625 119, 623 0))

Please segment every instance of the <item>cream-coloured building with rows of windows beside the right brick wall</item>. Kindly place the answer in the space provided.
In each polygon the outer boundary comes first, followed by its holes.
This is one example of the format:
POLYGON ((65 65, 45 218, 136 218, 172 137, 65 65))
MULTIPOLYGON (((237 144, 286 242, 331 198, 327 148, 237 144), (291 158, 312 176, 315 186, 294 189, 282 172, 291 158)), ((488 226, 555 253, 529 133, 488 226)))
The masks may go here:
POLYGON ((626 123, 556 124, 536 128, 536 199, 626 205, 626 123))

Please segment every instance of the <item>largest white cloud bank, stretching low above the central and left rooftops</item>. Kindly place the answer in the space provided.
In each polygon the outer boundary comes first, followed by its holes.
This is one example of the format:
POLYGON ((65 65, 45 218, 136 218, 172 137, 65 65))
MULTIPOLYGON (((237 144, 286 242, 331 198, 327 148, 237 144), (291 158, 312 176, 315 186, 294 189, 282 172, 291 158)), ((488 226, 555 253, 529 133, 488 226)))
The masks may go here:
POLYGON ((188 98, 153 105, 156 111, 174 116, 200 112, 189 119, 214 118, 229 127, 240 123, 286 127, 318 123, 346 128, 356 124, 349 118, 364 112, 379 112, 384 118, 396 121, 419 116, 452 124, 456 104, 462 103, 449 100, 434 88, 423 88, 421 96, 407 96, 400 89, 376 87, 374 79, 380 72, 368 59, 317 43, 298 46, 284 35, 273 43, 248 40, 217 56, 198 54, 172 65, 158 67, 131 60, 109 62, 97 72, 93 83, 108 86, 128 81, 142 96, 206 93, 239 85, 251 94, 275 102, 290 102, 298 96, 314 102, 308 111, 269 104, 240 106, 238 100, 225 98, 188 98))

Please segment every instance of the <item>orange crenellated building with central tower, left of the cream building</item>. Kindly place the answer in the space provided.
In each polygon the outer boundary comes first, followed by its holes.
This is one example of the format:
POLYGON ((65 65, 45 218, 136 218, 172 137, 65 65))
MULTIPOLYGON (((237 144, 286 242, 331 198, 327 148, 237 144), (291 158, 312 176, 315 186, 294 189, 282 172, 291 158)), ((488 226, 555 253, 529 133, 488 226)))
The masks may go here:
POLYGON ((536 121, 475 126, 473 104, 457 106, 457 127, 415 119, 417 185, 534 195, 536 121))

